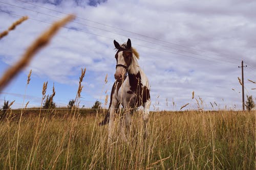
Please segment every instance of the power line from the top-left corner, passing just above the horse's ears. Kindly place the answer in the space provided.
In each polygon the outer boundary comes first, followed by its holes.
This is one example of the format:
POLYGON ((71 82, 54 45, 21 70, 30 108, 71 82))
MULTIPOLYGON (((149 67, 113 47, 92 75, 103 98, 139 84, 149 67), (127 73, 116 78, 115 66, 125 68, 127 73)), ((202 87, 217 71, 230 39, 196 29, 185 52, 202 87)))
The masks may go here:
MULTIPOLYGON (((19 1, 19 0, 18 0, 18 1, 19 1)), ((4 3, 4 2, 1 2, 1 1, 0 1, 0 3, 7 4, 7 5, 10 5, 10 6, 14 6, 14 7, 17 7, 17 8, 22 8, 22 9, 29 10, 29 11, 32 11, 32 12, 36 12, 36 13, 48 15, 48 16, 55 17, 55 18, 61 18, 61 17, 58 17, 58 16, 46 14, 46 13, 43 13, 43 12, 34 11, 34 10, 31 10, 31 9, 27 9, 27 8, 24 8, 24 7, 16 6, 16 5, 13 5, 13 4, 4 3)), ((54 11, 55 11, 55 10, 54 10, 54 11)), ((60 13, 62 13, 62 12, 60 12, 60 13)), ((65 14, 65 13, 64 13, 64 14, 65 14)), ((129 36, 124 35, 124 34, 115 33, 115 32, 109 31, 109 30, 104 30, 104 29, 97 28, 97 27, 94 27, 94 26, 86 25, 86 24, 84 24, 84 23, 80 23, 80 22, 76 22, 76 21, 71 21, 71 22, 77 23, 77 24, 79 24, 79 25, 91 27, 91 28, 94 28, 94 29, 98 29, 98 30, 101 30, 101 31, 109 32, 109 33, 112 33, 112 34, 117 34, 117 35, 129 37, 129 36)), ((189 51, 187 51, 187 50, 181 50, 181 49, 176 48, 176 47, 166 46, 166 45, 158 44, 158 43, 155 43, 155 42, 152 42, 152 41, 147 41, 147 40, 143 40, 143 39, 136 38, 136 37, 130 37, 130 38, 137 39, 137 40, 140 40, 140 41, 144 41, 144 42, 147 42, 147 43, 152 43, 152 44, 159 45, 159 46, 163 46, 163 47, 167 47, 167 48, 172 48, 172 49, 175 49, 175 50, 178 50, 178 51, 182 51, 182 52, 185 52, 185 53, 190 53, 190 54, 194 54, 194 55, 199 55, 199 56, 203 56, 203 57, 215 59, 215 58, 212 58, 212 57, 209 57, 209 56, 205 56, 205 55, 201 55, 201 54, 198 54, 198 53, 189 52, 189 51)), ((174 53, 174 54, 177 54, 177 53, 174 53)), ((220 56, 220 57, 221 57, 221 56, 220 56)), ((222 58, 224 58, 224 57, 222 57, 222 58)), ((226 57, 226 58, 229 58, 229 57, 226 57)), ((231 59, 233 59, 233 58, 231 58, 231 59)), ((221 59, 219 59, 219 60, 221 60, 221 59)), ((233 60, 234 60, 234 59, 233 59, 233 60)), ((221 61, 229 62, 229 63, 233 63, 233 64, 237 64, 236 62, 231 62, 231 61, 226 61, 226 60, 221 60, 221 61)))

